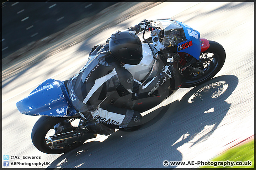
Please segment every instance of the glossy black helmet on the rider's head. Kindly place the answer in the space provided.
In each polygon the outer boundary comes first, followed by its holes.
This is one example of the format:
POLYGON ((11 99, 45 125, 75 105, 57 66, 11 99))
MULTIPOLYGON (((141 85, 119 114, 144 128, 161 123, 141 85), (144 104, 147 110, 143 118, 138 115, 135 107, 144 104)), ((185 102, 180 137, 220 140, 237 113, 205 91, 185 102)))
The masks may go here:
POLYGON ((108 47, 118 61, 137 65, 142 60, 142 43, 138 35, 129 31, 117 31, 111 35, 108 47))

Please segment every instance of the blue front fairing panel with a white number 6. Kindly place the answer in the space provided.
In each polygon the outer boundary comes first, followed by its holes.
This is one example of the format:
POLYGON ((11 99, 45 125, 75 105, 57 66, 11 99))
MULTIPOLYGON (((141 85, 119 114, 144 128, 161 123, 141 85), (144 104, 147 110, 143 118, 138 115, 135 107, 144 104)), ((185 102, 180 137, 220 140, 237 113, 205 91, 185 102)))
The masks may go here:
POLYGON ((201 51, 200 33, 197 30, 194 30, 193 28, 191 28, 190 26, 187 26, 182 22, 179 22, 179 21, 176 21, 176 22, 179 23, 180 26, 182 26, 182 28, 184 29, 185 36, 187 39, 186 41, 183 41, 177 45, 177 51, 186 52, 198 60, 200 56, 200 51, 201 51), (188 43, 190 41, 192 41, 192 46, 180 50, 179 46, 182 46, 185 43, 188 43))

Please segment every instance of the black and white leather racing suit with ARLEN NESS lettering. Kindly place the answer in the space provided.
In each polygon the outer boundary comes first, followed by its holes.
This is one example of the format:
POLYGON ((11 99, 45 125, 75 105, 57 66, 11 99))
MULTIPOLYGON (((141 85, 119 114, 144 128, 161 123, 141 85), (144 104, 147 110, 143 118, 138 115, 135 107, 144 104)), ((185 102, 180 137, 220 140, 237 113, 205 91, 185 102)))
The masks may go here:
POLYGON ((87 120, 93 118, 104 124, 116 125, 115 128, 140 125, 142 116, 139 112, 114 107, 104 100, 117 89, 135 96, 148 93, 169 79, 167 75, 160 73, 148 83, 140 83, 110 55, 108 42, 97 46, 90 57, 94 59, 68 81, 68 91, 75 109, 87 120))

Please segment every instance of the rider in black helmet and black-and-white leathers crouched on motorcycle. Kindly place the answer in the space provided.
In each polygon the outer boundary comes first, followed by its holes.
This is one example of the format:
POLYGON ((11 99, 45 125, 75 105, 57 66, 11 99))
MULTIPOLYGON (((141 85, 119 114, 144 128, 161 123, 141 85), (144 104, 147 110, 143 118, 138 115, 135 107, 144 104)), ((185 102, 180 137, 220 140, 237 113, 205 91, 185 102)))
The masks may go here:
POLYGON ((165 66, 156 77, 142 84, 124 67, 124 64, 137 65, 143 58, 142 42, 137 34, 145 29, 146 21, 117 31, 106 44, 95 46, 90 52, 94 60, 68 81, 71 103, 79 111, 80 123, 84 122, 87 130, 101 135, 111 134, 115 128, 137 130, 142 115, 106 103, 106 98, 117 90, 139 97, 174 76, 172 66, 165 66))

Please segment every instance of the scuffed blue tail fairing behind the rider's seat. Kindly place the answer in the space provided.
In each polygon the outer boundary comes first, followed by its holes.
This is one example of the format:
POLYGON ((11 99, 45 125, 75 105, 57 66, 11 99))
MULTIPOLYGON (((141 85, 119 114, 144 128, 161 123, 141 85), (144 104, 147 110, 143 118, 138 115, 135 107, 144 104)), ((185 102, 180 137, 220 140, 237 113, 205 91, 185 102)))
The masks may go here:
POLYGON ((44 81, 16 106, 27 115, 67 117, 78 113, 71 105, 64 82, 54 79, 44 81))

